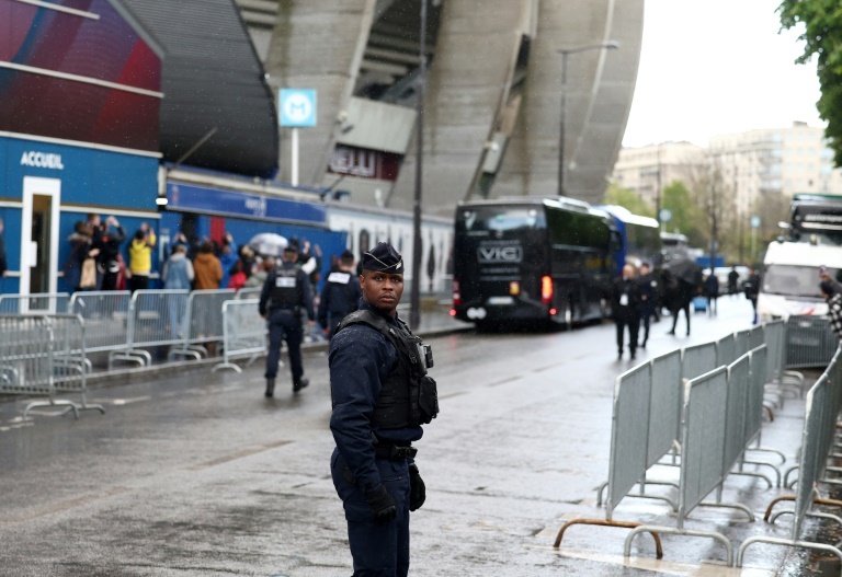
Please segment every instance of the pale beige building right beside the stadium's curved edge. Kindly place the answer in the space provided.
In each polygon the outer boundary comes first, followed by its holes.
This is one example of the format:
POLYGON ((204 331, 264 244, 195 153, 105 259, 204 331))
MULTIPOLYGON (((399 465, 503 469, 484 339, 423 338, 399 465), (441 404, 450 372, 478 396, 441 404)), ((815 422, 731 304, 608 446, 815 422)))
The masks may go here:
POLYGON ((694 168, 705 162, 705 149, 691 142, 663 142, 624 148, 614 164, 614 182, 634 191, 647 203, 658 204, 659 191, 674 181, 690 184, 694 168))

